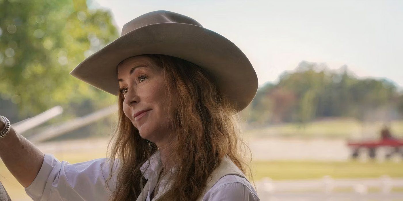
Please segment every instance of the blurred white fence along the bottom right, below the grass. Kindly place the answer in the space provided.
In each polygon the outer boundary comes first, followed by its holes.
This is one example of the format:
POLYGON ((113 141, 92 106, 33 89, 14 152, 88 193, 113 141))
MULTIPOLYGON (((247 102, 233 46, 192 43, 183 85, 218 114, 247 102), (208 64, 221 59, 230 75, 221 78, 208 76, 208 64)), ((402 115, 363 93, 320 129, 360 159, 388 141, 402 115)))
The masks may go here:
MULTIPOLYGON (((393 191, 393 188, 403 188, 403 178, 357 178, 333 179, 324 176, 312 180, 272 180, 263 178, 256 182, 256 188, 262 201, 265 200, 295 200, 292 197, 305 197, 298 200, 315 200, 324 196, 331 197, 372 197, 374 200, 384 200, 394 197, 403 200, 403 189, 393 191), (376 189, 375 193, 369 189, 376 189), (379 199, 376 199, 379 197, 379 199), (269 199, 270 198, 270 199, 269 199), (286 199, 288 198, 288 199, 286 199)), ((336 199, 337 200, 337 199, 336 199)))

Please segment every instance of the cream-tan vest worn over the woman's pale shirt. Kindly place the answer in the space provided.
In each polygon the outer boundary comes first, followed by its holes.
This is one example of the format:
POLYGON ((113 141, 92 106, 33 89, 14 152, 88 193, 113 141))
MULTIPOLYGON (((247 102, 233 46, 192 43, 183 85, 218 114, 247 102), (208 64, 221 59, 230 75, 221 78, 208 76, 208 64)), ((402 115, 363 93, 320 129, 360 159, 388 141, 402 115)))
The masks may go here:
MULTIPOLYGON (((243 172, 239 170, 239 168, 231 161, 231 159, 225 156, 221 164, 211 173, 210 175, 211 178, 210 180, 208 180, 202 195, 197 199, 197 201, 202 201, 204 195, 206 195, 206 193, 214 186, 214 184, 216 184, 220 178, 229 174, 235 174, 243 178, 246 178, 245 174, 243 174, 243 172)), ((148 191, 150 191, 150 183, 147 181, 147 183, 145 183, 143 191, 141 191, 136 201, 145 201, 145 199, 147 199, 148 191)), ((157 198, 161 197, 163 193, 164 192, 157 193, 157 195, 155 195, 153 200, 156 200, 157 198)))

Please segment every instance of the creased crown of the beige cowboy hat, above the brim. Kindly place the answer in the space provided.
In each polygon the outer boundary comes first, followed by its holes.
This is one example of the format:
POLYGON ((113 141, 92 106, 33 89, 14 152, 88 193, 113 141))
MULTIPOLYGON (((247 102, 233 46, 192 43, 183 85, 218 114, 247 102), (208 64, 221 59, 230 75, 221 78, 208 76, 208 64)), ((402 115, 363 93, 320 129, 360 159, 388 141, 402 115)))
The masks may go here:
POLYGON ((133 20, 131 20, 130 22, 123 25, 121 35, 123 36, 129 33, 130 31, 133 31, 140 27, 158 23, 185 23, 203 27, 200 23, 198 23, 197 21, 188 16, 176 12, 170 12, 167 10, 157 10, 138 16, 133 20))

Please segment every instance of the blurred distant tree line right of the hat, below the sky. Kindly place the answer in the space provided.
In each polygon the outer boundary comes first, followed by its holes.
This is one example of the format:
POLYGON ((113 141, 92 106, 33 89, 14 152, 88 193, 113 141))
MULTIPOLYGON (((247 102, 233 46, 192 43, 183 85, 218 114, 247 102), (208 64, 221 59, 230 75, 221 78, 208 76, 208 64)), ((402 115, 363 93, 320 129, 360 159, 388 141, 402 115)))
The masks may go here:
POLYGON ((295 72, 284 72, 277 84, 260 88, 242 112, 249 123, 307 123, 322 117, 354 117, 390 121, 403 114, 403 94, 387 79, 358 79, 347 66, 303 61, 295 72))

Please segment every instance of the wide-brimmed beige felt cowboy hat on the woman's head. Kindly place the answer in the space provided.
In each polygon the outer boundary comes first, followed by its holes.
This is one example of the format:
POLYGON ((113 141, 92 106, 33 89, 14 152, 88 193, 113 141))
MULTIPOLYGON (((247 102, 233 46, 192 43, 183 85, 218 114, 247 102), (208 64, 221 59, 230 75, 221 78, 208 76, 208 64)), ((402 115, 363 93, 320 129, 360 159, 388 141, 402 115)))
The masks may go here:
POLYGON ((258 89, 255 70, 234 43, 188 16, 166 10, 134 18, 123 26, 118 39, 87 57, 70 74, 117 96, 116 66, 141 54, 170 55, 200 66, 238 112, 251 103, 258 89))

